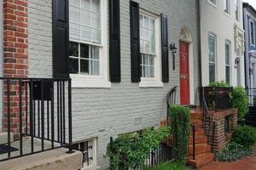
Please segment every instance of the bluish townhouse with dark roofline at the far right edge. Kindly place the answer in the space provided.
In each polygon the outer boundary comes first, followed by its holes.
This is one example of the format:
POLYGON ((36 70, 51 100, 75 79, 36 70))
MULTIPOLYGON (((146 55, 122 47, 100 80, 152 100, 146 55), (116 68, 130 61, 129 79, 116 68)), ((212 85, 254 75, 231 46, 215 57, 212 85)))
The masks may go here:
MULTIPOLYGON (((246 87, 256 88, 256 10, 249 3, 243 3, 243 20, 245 29, 245 66, 246 66, 246 87)), ((255 95, 253 89, 249 91, 255 95)), ((251 99, 253 102, 253 99, 251 99)), ((253 103, 252 103, 253 104, 253 103)))

